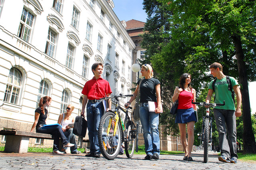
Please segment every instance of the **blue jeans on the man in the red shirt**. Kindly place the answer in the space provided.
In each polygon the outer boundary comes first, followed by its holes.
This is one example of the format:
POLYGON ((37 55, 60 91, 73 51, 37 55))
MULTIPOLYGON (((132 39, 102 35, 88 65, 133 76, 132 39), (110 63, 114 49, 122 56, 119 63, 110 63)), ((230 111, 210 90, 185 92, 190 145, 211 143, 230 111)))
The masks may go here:
MULTIPOLYGON (((98 142, 98 128, 100 125, 100 118, 104 113, 104 106, 102 102, 87 103, 87 128, 90 141, 90 153, 99 152, 100 146, 98 142)), ((101 129, 102 130, 102 129, 101 129)))

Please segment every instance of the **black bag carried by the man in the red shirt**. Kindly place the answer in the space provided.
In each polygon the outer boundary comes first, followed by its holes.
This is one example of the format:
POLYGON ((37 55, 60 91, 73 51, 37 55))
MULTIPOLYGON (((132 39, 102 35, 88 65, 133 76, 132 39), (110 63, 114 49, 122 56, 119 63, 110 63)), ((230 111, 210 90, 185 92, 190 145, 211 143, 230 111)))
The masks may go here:
POLYGON ((78 137, 85 137, 87 121, 82 116, 77 116, 74 122, 73 133, 78 137))

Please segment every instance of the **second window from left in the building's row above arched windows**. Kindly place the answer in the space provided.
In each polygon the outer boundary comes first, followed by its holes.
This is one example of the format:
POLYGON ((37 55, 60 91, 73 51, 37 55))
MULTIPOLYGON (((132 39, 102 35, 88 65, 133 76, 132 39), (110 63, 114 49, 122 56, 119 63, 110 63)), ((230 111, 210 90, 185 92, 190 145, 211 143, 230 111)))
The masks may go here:
POLYGON ((48 37, 46 40, 46 47, 45 47, 44 52, 47 55, 49 55, 50 57, 54 57, 54 51, 55 51, 55 46, 56 46, 56 37, 57 37, 57 34, 49 28, 48 37))

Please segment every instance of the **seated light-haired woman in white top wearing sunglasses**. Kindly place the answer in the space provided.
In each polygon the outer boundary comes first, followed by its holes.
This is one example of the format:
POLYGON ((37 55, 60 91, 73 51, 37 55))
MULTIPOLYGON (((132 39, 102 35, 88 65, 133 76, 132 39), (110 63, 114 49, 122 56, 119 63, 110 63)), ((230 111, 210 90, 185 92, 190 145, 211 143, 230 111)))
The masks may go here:
MULTIPOLYGON (((62 126, 62 131, 66 136, 68 142, 72 142, 74 146, 70 147, 70 151, 72 154, 80 154, 81 152, 77 150, 76 144, 76 136, 73 134, 73 127, 68 126, 70 123, 75 122, 75 117, 72 115, 72 111, 74 111, 73 105, 68 105, 66 108, 66 113, 62 113, 59 116, 58 124, 62 126)), ((62 152, 65 152, 67 148, 62 146, 62 152)))

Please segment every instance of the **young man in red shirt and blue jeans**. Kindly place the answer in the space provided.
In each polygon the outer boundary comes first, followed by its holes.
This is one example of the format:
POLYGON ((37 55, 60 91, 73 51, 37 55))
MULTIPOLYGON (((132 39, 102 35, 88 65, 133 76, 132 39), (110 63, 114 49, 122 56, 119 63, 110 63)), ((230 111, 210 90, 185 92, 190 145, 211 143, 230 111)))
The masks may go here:
MULTIPOLYGON (((98 127, 100 124, 100 118, 104 113, 103 103, 99 100, 103 97, 108 97, 112 93, 108 81, 102 79, 103 64, 94 63, 92 65, 92 72, 94 77, 87 81, 82 90, 84 95, 82 102, 81 115, 84 115, 84 109, 86 107, 87 112, 87 128, 90 141, 90 154, 86 154, 87 157, 100 157, 100 147, 98 142, 98 127)), ((108 100, 108 110, 111 109, 111 100, 108 100)))

